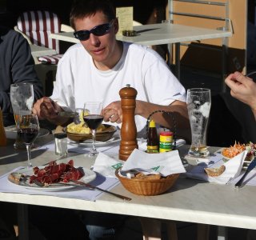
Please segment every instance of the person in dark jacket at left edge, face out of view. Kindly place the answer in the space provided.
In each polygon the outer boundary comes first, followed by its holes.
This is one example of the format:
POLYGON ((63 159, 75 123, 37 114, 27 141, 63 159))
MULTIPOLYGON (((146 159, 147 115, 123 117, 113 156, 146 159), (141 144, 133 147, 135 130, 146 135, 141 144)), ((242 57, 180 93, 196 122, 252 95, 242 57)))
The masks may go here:
POLYGON ((10 85, 29 82, 34 86, 34 100, 42 98, 42 82, 34 70, 29 43, 15 30, 0 26, 0 107, 4 126, 15 124, 10 102, 10 85))

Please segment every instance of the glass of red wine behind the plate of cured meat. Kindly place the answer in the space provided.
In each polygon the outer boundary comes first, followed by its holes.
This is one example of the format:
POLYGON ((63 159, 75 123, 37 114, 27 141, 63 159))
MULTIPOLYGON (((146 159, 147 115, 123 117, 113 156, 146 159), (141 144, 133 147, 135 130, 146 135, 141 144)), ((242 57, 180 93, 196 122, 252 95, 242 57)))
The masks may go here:
POLYGON ((26 145, 28 167, 31 163, 31 145, 39 133, 38 116, 35 114, 18 115, 17 118, 18 138, 26 145))

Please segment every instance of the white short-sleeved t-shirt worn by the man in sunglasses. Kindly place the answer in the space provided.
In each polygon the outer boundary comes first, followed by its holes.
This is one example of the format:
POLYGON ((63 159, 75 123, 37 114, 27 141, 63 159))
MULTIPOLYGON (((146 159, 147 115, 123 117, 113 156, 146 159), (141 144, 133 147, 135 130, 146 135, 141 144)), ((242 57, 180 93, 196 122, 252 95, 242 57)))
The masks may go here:
MULTIPOLYGON (((170 72, 169 66, 154 50, 123 42, 122 58, 112 70, 98 70, 81 43, 71 46, 60 62, 50 98, 70 110, 83 108, 85 102, 103 102, 103 107, 120 101, 119 90, 130 84, 136 100, 170 105, 186 102, 186 90, 170 72)), ((146 118, 135 116, 138 132, 146 118)), ((110 123, 110 122, 108 122, 110 123)))

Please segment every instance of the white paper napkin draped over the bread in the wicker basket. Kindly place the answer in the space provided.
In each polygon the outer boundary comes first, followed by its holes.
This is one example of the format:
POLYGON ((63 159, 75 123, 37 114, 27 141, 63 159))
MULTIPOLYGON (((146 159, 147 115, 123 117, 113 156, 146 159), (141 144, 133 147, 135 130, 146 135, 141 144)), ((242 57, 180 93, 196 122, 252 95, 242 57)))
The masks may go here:
POLYGON ((164 177, 186 172, 178 150, 161 154, 147 154, 145 151, 134 149, 122 166, 121 173, 126 175, 125 172, 130 170, 138 170, 148 174, 160 173, 164 177))

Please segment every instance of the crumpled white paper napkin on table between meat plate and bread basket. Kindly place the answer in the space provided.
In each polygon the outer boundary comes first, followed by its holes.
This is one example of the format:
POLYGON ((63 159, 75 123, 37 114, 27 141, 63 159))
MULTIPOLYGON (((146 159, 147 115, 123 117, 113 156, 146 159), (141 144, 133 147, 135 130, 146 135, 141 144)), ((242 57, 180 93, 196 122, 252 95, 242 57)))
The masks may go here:
POLYGON ((111 158, 110 156, 99 152, 95 159, 93 170, 105 177, 116 178, 114 174, 115 170, 121 167, 122 164, 123 162, 121 160, 111 158))

